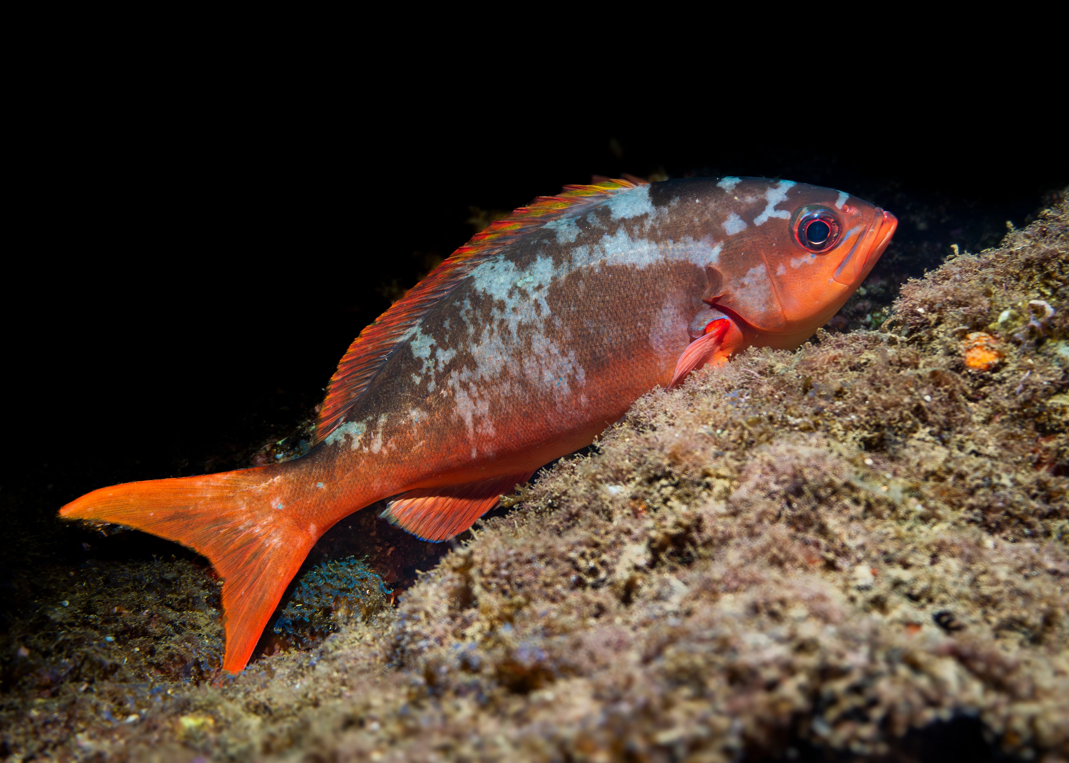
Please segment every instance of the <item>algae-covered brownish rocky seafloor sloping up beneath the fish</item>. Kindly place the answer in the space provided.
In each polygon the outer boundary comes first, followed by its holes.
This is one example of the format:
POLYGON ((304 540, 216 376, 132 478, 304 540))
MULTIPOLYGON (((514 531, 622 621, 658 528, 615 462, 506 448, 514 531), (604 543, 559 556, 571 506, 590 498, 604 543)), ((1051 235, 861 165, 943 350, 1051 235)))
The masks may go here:
POLYGON ((990 244, 904 283, 893 245, 812 342, 651 392, 458 542, 354 515, 236 678, 203 559, 78 530, 5 582, 0 753, 1069 759, 1065 194, 990 244))

